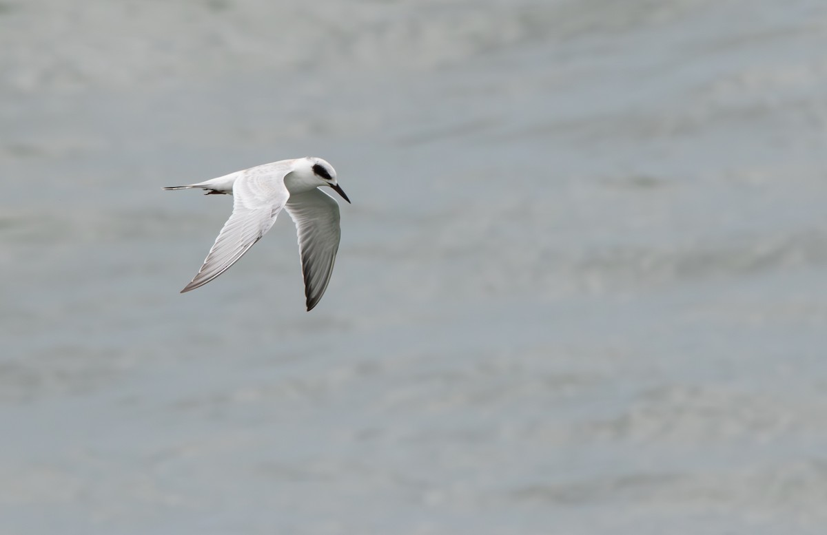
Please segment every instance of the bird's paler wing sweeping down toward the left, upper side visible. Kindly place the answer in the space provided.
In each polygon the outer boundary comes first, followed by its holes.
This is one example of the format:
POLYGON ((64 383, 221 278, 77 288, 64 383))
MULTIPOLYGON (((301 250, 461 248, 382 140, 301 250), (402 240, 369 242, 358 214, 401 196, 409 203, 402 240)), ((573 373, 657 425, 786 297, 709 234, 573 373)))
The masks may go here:
POLYGON ((291 170, 286 166, 252 168, 237 178, 232 185, 232 215, 218 233, 198 274, 181 293, 203 286, 227 271, 270 230, 290 196, 284 177, 291 170))

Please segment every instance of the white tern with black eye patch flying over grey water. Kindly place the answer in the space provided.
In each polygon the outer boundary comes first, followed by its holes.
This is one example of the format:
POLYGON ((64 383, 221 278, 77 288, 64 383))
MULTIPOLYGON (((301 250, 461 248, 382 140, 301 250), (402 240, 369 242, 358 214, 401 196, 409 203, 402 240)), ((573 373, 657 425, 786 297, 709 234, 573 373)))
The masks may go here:
POLYGON ((218 277, 236 263, 275 223, 282 208, 296 224, 304 273, 308 312, 322 299, 339 249, 339 204, 318 189, 332 187, 350 202, 336 181, 336 171, 321 158, 298 158, 265 163, 254 168, 189 186, 206 195, 226 193, 234 197, 232 215, 224 224, 203 266, 181 293, 194 290, 218 277))

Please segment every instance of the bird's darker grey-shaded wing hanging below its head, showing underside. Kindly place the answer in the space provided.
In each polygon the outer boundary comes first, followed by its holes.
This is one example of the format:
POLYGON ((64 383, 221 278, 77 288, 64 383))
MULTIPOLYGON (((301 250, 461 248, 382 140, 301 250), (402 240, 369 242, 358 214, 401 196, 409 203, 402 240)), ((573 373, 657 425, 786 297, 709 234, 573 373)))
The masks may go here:
POLYGON ((339 250, 339 205, 315 188, 290 196, 285 206, 299 233, 308 311, 322 299, 339 250))

